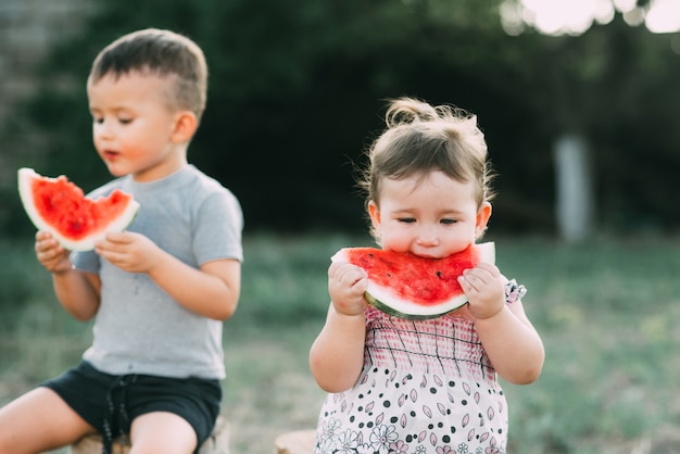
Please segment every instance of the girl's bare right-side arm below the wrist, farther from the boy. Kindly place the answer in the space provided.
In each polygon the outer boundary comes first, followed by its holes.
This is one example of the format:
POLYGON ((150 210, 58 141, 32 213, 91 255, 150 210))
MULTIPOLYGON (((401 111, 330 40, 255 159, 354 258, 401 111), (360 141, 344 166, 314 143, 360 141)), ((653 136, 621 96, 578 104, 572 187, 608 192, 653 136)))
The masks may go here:
POLYGON ((504 380, 528 384, 539 378, 545 351, 520 300, 489 318, 477 319, 475 326, 491 364, 504 380))

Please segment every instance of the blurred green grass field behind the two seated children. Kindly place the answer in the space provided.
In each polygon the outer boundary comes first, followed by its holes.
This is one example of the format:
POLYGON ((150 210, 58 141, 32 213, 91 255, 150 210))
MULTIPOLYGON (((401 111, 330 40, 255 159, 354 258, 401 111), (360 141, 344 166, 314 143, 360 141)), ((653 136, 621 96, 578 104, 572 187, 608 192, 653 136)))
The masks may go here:
MULTIPOLYGON (((673 453, 680 445, 680 242, 566 245, 491 238, 499 266, 529 289, 546 348, 533 384, 504 383, 509 452, 673 453)), ((307 352, 328 305, 328 257, 370 244, 343 235, 244 241, 242 298, 225 324, 223 413, 235 454, 267 454, 282 432, 314 428, 324 398, 307 352)), ((0 404, 75 364, 90 341, 54 302, 32 244, 0 242, 0 404)), ((520 352, 518 352, 520 354, 520 352)))

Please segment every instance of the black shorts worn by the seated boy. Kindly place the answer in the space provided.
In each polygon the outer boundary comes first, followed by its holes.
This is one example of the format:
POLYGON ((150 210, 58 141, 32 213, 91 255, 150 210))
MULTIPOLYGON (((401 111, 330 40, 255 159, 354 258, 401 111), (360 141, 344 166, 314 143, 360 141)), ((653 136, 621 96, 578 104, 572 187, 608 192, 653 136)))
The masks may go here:
POLYGON ((96 428, 104 443, 128 436, 131 421, 140 415, 169 412, 193 427, 198 438, 196 452, 213 431, 222 402, 218 380, 115 376, 97 370, 86 361, 42 386, 56 392, 96 428))

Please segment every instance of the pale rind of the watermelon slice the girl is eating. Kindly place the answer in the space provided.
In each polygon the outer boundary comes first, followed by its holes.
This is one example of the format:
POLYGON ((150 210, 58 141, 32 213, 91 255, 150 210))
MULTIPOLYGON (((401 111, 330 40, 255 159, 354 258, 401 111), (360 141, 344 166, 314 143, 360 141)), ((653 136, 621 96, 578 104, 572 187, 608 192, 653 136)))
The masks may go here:
MULTIPOLYGON (((495 263, 495 243, 492 241, 475 244, 480 262, 495 263)), ((333 255, 333 261, 344 260, 342 251, 333 255)), ((403 300, 395 292, 385 286, 379 286, 368 280, 365 292, 366 301, 372 306, 383 313, 405 320, 427 320, 438 318, 455 311, 467 303, 465 293, 452 297, 442 303, 433 305, 420 305, 403 300)))

